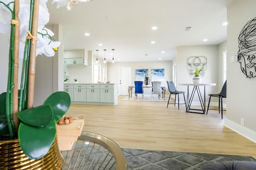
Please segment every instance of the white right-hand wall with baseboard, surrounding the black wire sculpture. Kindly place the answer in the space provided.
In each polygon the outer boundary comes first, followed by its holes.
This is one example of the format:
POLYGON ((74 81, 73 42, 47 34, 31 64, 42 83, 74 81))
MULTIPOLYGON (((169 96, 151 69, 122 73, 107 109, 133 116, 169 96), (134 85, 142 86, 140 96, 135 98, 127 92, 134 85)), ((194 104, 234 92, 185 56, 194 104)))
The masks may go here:
POLYGON ((256 78, 246 78, 240 69, 240 63, 230 63, 230 57, 238 52, 240 31, 248 21, 256 17, 255 6, 255 0, 236 0, 228 7, 228 82, 225 126, 256 142, 256 78), (244 127, 240 126, 241 118, 244 118, 244 127))

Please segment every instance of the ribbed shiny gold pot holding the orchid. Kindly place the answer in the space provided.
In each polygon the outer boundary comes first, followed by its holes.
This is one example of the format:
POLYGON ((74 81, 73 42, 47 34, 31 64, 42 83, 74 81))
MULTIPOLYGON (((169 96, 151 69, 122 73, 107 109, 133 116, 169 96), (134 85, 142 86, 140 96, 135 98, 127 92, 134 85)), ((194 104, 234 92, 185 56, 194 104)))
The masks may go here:
POLYGON ((30 159, 23 153, 18 139, 0 141, 1 170, 61 170, 63 162, 57 137, 49 152, 37 160, 30 159))

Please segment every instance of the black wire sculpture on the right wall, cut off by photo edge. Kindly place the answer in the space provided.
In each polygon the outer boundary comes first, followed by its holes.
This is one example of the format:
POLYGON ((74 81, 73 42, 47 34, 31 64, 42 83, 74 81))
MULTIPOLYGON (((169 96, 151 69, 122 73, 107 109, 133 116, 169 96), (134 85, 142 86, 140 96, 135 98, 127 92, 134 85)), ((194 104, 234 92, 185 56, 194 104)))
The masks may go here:
POLYGON ((256 18, 246 23, 238 37, 238 62, 247 78, 256 77, 256 18))

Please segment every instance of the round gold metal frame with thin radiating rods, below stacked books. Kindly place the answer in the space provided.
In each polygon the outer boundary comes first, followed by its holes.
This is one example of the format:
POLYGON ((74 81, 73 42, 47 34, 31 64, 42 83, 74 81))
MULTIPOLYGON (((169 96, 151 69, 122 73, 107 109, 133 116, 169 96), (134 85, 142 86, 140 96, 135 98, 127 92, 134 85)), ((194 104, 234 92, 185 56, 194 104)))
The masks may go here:
POLYGON ((114 141, 82 131, 71 150, 61 151, 62 170, 126 170, 126 159, 114 141))

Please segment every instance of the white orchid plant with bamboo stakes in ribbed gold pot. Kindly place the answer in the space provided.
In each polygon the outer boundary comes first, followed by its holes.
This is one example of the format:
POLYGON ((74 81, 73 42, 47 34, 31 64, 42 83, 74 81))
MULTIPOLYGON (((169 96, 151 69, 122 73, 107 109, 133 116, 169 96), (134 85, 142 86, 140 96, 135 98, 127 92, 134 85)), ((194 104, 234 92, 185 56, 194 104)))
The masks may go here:
MULTIPOLYGON (((74 5, 64 0, 56 3, 58 7, 66 5, 68 10, 74 5)), ((55 92, 41 106, 33 106, 36 55, 52 57, 60 45, 54 40, 54 33, 44 27, 49 21, 46 2, 13 0, 0 4, 4 23, 12 19, 10 24, 0 24, 0 33, 10 33, 7 92, 0 94, 0 154, 4 160, 0 167, 59 170, 63 158, 58 149, 56 122, 68 110, 70 96, 55 92), (22 16, 20 20, 19 16, 22 16), (24 53, 19 54, 19 49, 24 53), (19 58, 26 62, 18 90, 19 58)))

